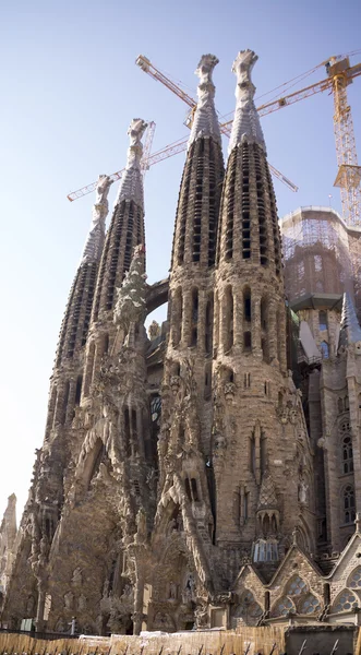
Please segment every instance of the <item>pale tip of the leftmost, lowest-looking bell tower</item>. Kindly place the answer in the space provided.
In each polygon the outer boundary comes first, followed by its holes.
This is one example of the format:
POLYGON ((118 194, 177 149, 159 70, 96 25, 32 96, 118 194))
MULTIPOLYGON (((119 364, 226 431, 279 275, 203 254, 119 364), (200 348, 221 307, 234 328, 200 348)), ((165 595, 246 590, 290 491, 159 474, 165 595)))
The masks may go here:
POLYGON ((92 226, 85 241, 81 265, 100 260, 106 234, 106 217, 109 209, 108 193, 111 184, 112 180, 107 175, 99 175, 95 204, 93 205, 92 226))

